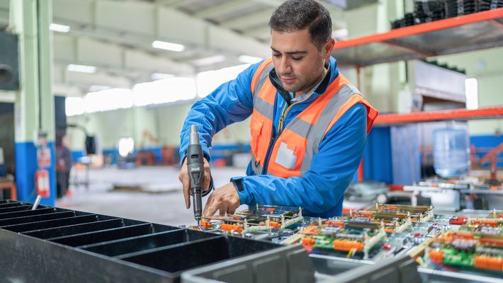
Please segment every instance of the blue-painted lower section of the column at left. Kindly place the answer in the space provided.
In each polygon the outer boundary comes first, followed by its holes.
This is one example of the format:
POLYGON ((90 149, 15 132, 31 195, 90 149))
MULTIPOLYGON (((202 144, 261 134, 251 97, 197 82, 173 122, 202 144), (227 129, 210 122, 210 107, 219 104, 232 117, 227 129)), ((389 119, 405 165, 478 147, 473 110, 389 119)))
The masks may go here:
MULTIPOLYGON (((51 166, 49 171, 50 197, 44 197, 40 204, 55 206, 56 202, 56 161, 55 144, 48 144, 51 151, 51 166)), ((35 172, 37 171, 37 148, 33 141, 16 142, 16 186, 18 200, 35 202, 35 172)))

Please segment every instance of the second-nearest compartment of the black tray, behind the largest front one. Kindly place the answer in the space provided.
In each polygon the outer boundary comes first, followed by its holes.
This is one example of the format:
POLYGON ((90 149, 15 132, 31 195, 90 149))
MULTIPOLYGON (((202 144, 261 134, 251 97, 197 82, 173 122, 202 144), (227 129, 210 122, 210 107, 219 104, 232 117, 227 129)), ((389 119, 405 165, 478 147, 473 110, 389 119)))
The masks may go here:
POLYGON ((153 233, 150 235, 124 238, 118 241, 96 243, 88 246, 80 246, 84 250, 89 250, 101 255, 118 256, 128 253, 135 253, 140 250, 150 250, 164 246, 171 246, 179 243, 186 243, 203 238, 213 238, 214 234, 191 231, 185 229, 153 233))

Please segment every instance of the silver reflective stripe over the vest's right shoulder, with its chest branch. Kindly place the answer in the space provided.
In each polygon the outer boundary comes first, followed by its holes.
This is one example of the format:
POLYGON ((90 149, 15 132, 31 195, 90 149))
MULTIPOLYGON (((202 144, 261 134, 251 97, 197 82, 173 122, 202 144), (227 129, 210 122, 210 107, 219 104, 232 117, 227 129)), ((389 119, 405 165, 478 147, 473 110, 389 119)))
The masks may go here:
POLYGON ((360 94, 360 92, 354 88, 354 86, 349 86, 345 84, 341 86, 341 89, 330 98, 329 102, 322 110, 320 117, 316 121, 315 125, 301 120, 298 117, 293 118, 291 122, 286 125, 286 129, 299 134, 300 137, 305 137, 307 139, 307 146, 305 155, 303 158, 302 165, 300 166, 300 175, 303 176, 311 167, 312 157, 318 152, 318 147, 324 138, 324 133, 327 130, 328 125, 334 119, 337 112, 342 108, 342 106, 355 94, 360 94))

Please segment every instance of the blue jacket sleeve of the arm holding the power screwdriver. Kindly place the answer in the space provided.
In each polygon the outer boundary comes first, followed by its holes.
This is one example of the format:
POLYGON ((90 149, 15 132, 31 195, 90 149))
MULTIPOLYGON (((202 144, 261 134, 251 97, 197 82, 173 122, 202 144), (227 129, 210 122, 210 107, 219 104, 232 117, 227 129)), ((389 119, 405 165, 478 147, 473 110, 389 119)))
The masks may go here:
POLYGON ((181 163, 186 157, 191 125, 198 125, 201 147, 206 159, 210 161, 209 149, 213 136, 228 125, 242 121, 252 114, 253 97, 250 85, 259 64, 252 64, 236 79, 222 83, 215 91, 194 103, 180 133, 181 163))

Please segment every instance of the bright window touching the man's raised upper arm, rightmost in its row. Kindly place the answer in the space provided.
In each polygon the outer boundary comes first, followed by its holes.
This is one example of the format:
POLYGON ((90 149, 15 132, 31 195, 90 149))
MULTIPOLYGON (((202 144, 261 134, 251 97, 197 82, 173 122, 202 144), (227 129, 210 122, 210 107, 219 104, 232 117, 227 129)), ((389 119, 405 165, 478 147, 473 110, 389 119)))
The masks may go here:
POLYGON ((198 86, 198 96, 208 96, 208 94, 214 91, 215 88, 220 86, 222 83, 236 79, 237 75, 244 69, 247 69, 249 65, 250 64, 242 64, 214 71, 200 72, 196 79, 196 84, 198 86))

